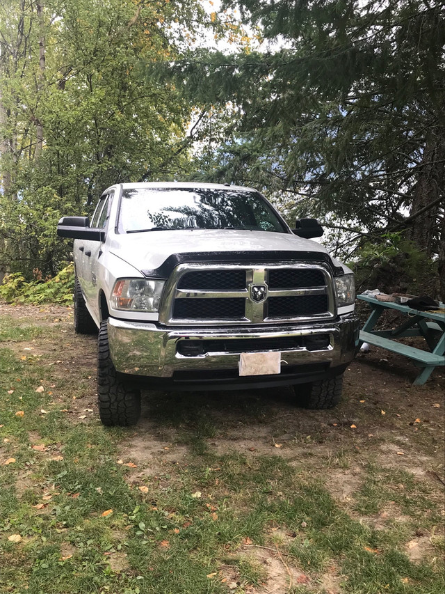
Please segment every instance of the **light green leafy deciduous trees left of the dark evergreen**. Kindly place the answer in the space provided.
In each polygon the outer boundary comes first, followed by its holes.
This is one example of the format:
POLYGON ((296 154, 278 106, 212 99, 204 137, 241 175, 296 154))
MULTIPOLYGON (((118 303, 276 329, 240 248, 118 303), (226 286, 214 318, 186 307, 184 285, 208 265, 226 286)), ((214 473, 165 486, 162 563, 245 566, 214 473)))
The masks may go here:
POLYGON ((191 104, 140 61, 178 58, 200 15, 196 0, 1 3, 0 269, 54 276, 70 259, 60 216, 92 214, 115 182, 188 171, 191 104))

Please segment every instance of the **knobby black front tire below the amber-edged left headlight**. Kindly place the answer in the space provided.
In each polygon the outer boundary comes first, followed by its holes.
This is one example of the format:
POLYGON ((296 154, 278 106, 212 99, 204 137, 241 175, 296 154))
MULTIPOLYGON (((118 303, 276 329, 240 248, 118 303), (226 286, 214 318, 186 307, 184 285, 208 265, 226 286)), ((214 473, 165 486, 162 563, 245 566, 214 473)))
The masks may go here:
POLYGON ((126 385, 111 361, 106 320, 99 329, 97 345, 97 395, 99 416, 104 425, 128 427, 140 417, 140 390, 126 385))

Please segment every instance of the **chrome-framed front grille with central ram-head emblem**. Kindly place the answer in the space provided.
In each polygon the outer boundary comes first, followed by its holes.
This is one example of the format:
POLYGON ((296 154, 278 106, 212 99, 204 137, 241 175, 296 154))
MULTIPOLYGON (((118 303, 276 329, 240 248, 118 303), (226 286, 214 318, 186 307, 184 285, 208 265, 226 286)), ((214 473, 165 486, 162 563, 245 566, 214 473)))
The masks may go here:
POLYGON ((335 315, 333 281, 318 263, 181 264, 165 285, 165 325, 272 324, 335 315))

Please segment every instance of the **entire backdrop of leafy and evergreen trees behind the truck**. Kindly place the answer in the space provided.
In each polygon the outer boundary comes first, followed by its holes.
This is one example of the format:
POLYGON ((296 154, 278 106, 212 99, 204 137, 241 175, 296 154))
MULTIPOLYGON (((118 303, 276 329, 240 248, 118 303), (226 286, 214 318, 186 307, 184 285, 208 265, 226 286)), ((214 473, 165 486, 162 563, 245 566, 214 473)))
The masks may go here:
POLYGON ((0 265, 54 273, 56 219, 113 182, 199 178, 320 217, 344 257, 410 239, 445 279, 443 1, 0 10, 0 265))

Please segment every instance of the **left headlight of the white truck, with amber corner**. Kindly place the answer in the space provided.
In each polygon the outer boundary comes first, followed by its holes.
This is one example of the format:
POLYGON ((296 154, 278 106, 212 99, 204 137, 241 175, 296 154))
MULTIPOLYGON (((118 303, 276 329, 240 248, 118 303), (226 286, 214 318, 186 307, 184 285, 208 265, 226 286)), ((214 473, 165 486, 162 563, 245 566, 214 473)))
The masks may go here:
POLYGON ((111 307, 127 311, 159 311, 165 281, 122 279, 116 281, 111 307))

